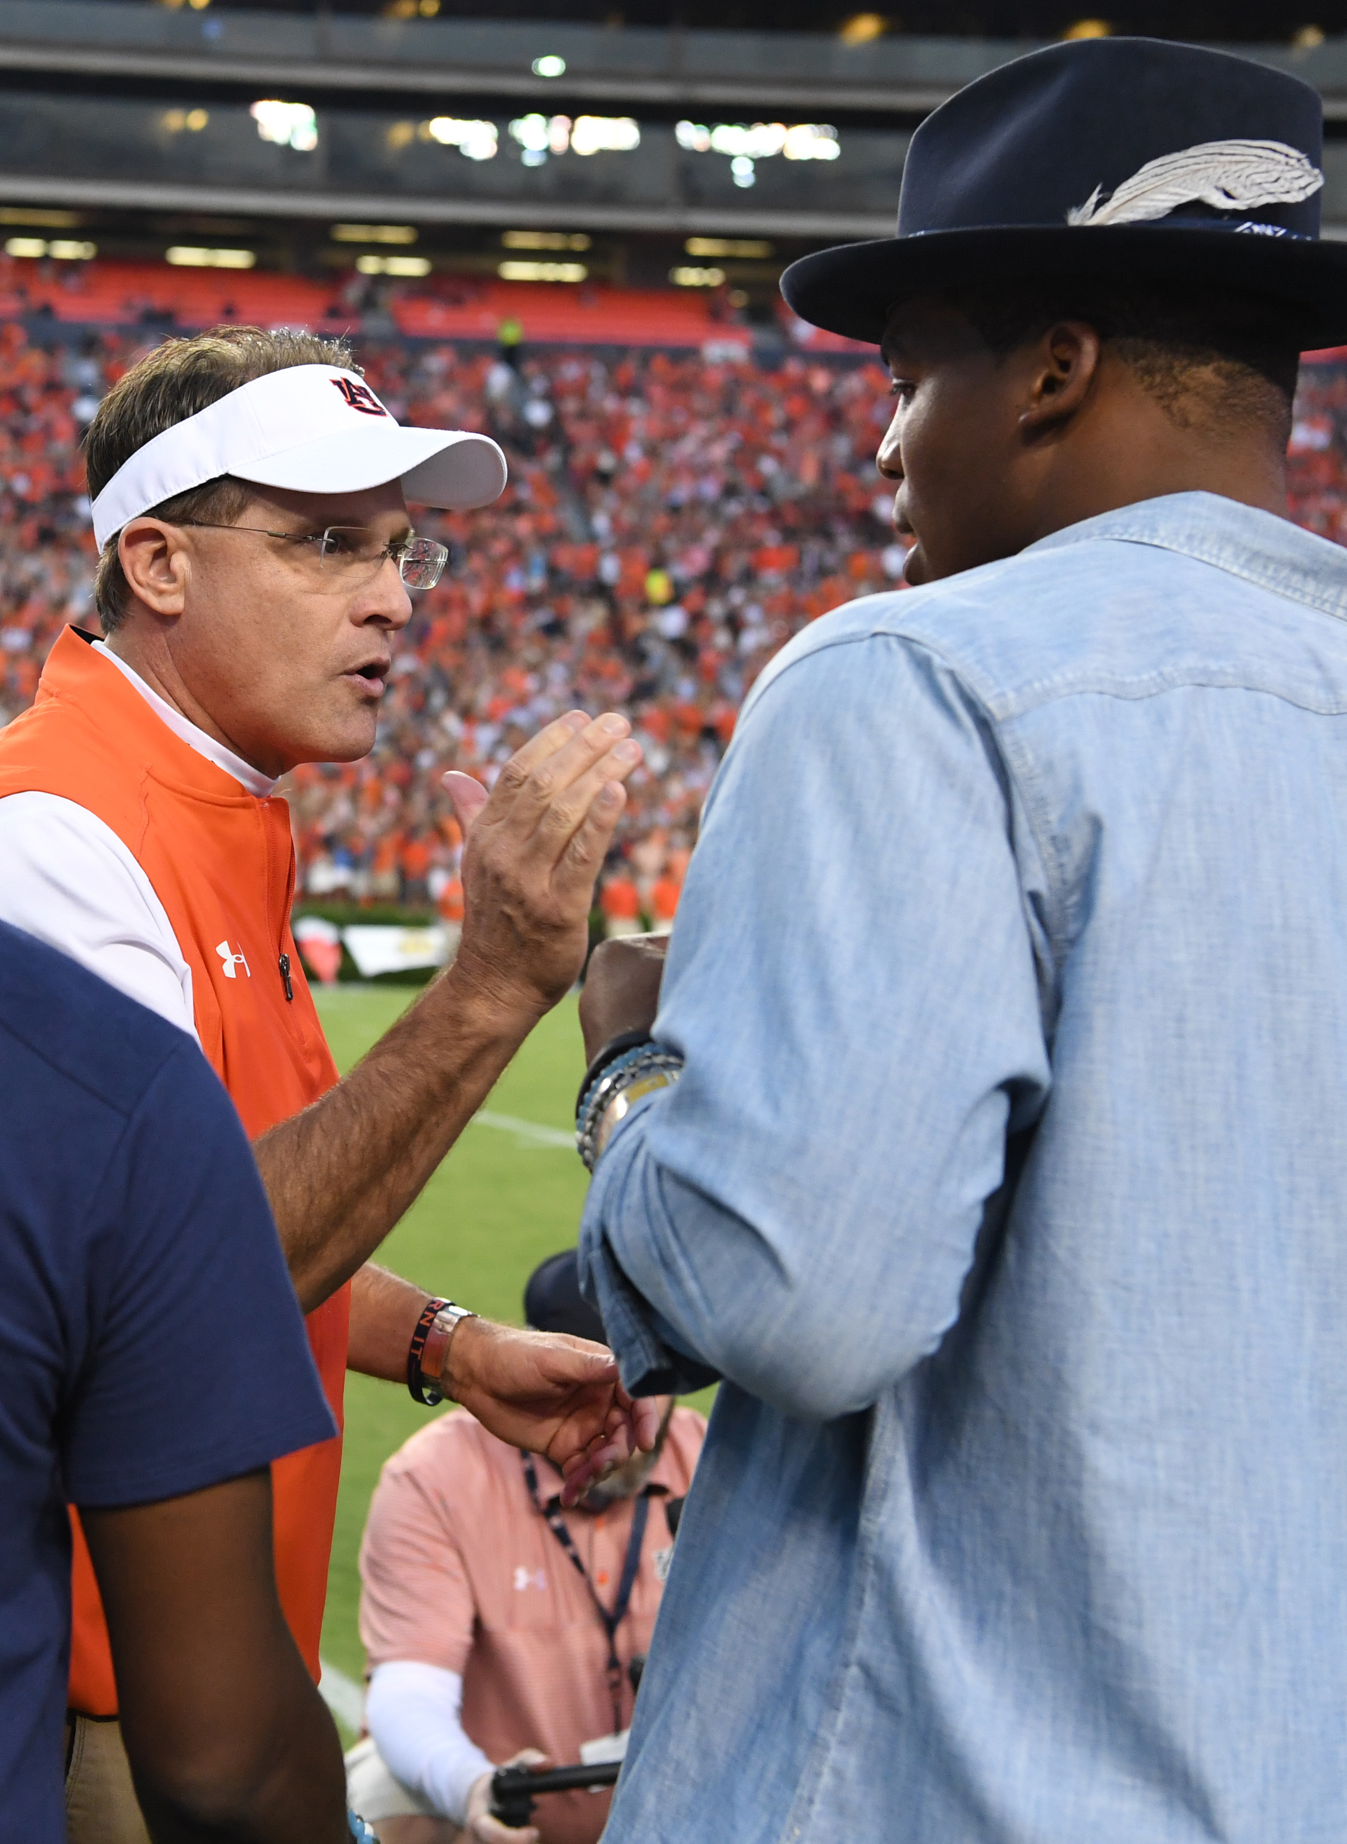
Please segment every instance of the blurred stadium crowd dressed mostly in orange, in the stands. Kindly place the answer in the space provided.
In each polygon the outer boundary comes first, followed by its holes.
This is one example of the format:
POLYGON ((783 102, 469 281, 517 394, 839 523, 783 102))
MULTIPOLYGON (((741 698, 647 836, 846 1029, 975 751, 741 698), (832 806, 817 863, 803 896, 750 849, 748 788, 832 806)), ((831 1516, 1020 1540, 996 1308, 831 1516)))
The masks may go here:
MULTIPOLYGON (((92 625, 81 426, 144 336, 44 347, 0 323, 0 725, 31 703, 66 621, 92 625)), ((734 715, 766 660, 851 596, 893 586, 902 546, 875 472, 889 415, 876 363, 552 349, 504 358, 375 343, 369 382, 408 422, 487 430, 511 459, 483 513, 424 514, 450 544, 417 597, 378 743, 292 776, 310 898, 437 904, 454 920, 458 828, 439 774, 491 782, 572 706, 626 708, 646 751, 613 931, 664 926, 734 715)), ((1292 505, 1347 542, 1347 367, 1306 367, 1292 505)))

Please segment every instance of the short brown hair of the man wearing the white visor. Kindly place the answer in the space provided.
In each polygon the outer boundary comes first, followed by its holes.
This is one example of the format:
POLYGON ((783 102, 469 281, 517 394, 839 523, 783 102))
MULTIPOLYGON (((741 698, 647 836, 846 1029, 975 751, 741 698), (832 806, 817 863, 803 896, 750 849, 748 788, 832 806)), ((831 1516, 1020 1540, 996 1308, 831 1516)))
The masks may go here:
MULTIPOLYGON (((155 435, 172 430, 175 422, 197 415, 220 402, 242 384, 266 378, 292 365, 340 365, 360 371, 345 339, 319 339, 316 334, 262 326, 212 326, 190 339, 164 339, 138 365, 118 378, 85 433, 85 474, 89 498, 96 500, 109 479, 124 467, 137 448, 155 435)), ((221 474, 173 494, 148 511, 155 518, 207 518, 221 526, 232 524, 247 505, 251 487, 221 474)), ((103 546, 94 575, 94 607, 105 634, 125 620, 131 588, 118 557, 120 531, 103 546)))

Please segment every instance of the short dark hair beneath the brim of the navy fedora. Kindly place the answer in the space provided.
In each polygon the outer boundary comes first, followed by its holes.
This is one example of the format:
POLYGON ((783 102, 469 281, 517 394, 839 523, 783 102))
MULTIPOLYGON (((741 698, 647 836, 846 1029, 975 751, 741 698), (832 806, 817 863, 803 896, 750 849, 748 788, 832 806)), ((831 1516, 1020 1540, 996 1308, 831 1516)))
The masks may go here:
POLYGON ((1290 435, 1297 328, 1281 302, 1231 290, 1043 278, 941 295, 1004 358, 1057 321, 1087 321, 1175 422, 1201 391, 1225 415, 1290 435))

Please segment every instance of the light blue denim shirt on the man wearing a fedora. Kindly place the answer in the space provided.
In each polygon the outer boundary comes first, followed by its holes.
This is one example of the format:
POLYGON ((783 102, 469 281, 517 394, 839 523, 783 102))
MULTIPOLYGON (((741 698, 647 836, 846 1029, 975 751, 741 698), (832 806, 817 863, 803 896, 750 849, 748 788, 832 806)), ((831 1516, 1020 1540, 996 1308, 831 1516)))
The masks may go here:
POLYGON ((581 1235, 725 1379, 605 1844, 1347 1840, 1345 621, 1179 494, 755 688, 581 1235))

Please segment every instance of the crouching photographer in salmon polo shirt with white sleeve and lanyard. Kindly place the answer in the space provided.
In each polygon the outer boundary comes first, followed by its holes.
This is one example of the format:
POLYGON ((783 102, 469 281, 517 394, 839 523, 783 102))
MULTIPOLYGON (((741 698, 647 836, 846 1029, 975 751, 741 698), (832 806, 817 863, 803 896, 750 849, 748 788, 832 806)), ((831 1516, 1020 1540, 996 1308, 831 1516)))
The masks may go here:
MULTIPOLYGON (((533 1272, 524 1317, 603 1342, 574 1248, 533 1272)), ((587 1765, 620 1757, 707 1431, 672 1396, 653 1401, 655 1449, 568 1512, 546 1460, 461 1411, 384 1466, 360 1551, 369 1739, 347 1755, 347 1798, 382 1844, 596 1844, 607 1792, 544 1794, 509 1829, 489 1813, 491 1776, 568 1767, 581 1748, 587 1765)))

